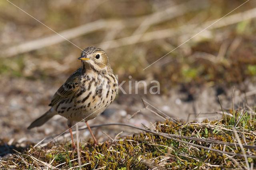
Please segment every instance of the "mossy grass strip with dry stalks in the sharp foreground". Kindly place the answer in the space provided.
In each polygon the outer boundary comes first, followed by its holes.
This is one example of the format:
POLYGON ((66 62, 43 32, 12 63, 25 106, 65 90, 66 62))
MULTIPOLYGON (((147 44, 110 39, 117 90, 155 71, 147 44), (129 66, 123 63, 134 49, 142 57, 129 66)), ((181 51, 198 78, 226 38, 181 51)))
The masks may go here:
MULTIPOLYGON (((225 119, 206 119, 202 123, 166 120, 141 129, 146 132, 105 141, 95 148, 80 143, 81 167, 119 170, 255 168, 255 113, 241 110, 225 119)), ((48 144, 42 148, 30 146, 1 160, 0 167, 78 168, 76 152, 73 156, 71 153, 70 143, 48 144)))

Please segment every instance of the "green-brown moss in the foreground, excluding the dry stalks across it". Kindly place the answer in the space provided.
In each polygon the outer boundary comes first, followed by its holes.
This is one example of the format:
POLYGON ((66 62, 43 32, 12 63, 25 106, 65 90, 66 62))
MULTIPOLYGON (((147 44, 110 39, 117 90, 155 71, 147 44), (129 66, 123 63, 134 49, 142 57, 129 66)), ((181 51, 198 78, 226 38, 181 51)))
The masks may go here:
MULTIPOLYGON (((240 113, 238 113, 238 116, 240 116, 240 113)), ((224 119, 220 120, 218 122, 218 127, 214 128, 212 128, 210 125, 216 125, 216 121, 211 122, 207 119, 202 123, 174 123, 167 120, 165 122, 158 122, 156 129, 158 132, 163 133, 178 135, 182 134, 184 136, 199 138, 204 137, 219 141, 234 142, 233 140, 236 137, 234 136, 232 130, 230 130, 234 125, 230 120, 234 120, 234 117, 226 117, 226 121, 224 119), (228 124, 224 124, 226 122, 228 124), (218 129, 221 129, 221 132, 218 132, 218 129), (195 131, 198 133, 194 133, 195 131)), ((238 125, 237 128, 246 130, 244 135, 248 144, 255 145, 255 141, 252 142, 255 139, 255 136, 252 133, 253 131, 249 128, 255 127, 256 121, 255 119, 250 119, 246 113, 246 115, 244 115, 244 122, 244 124, 241 123, 238 125)), ((244 142, 243 140, 241 141, 244 142)), ((224 149, 224 146, 220 144, 209 144, 207 142, 198 141, 192 141, 192 143, 206 147, 211 146, 212 148, 218 150, 224 149)), ((36 152, 34 152, 34 148, 28 149, 32 149, 30 152, 33 153, 32 156, 40 158, 40 160, 44 162, 50 162, 52 158, 54 158, 52 166, 57 166, 58 164, 64 163, 59 168, 70 168, 78 165, 77 161, 70 161, 77 158, 76 153, 74 156, 71 155, 70 150, 72 148, 70 144, 49 144, 48 147, 36 152)), ((236 164, 229 161, 229 159, 227 159, 223 154, 208 151, 202 148, 190 147, 186 144, 148 133, 127 136, 123 140, 114 142, 105 141, 95 148, 82 145, 80 149, 82 151, 81 163, 90 163, 83 167, 88 169, 101 167, 106 167, 106 169, 113 170, 148 169, 158 167, 160 164, 164 164, 166 169, 190 169, 196 167, 212 168, 207 166, 206 163, 219 165, 218 168, 221 169, 238 168, 236 164)), ((246 148, 244 149, 246 151, 248 150, 246 148)), ((242 154, 239 147, 236 149, 236 147, 228 146, 225 147, 225 151, 234 151, 235 153, 242 154)), ((251 149, 250 152, 256 154, 255 150, 251 149)), ((24 162, 21 161, 21 158, 17 158, 14 162, 19 164, 19 168, 40 168, 40 164, 36 164, 31 157, 26 156, 28 154, 29 153, 25 152, 21 155, 21 157, 28 162, 29 166, 24 164, 24 162)), ((246 166, 243 157, 233 156, 233 158, 236 159, 236 161, 240 164, 244 164, 244 166, 246 166)), ((13 165, 13 159, 10 158, 5 161, 7 162, 4 167, 13 165)), ((256 160, 252 158, 249 158, 248 161, 256 163, 256 160)))

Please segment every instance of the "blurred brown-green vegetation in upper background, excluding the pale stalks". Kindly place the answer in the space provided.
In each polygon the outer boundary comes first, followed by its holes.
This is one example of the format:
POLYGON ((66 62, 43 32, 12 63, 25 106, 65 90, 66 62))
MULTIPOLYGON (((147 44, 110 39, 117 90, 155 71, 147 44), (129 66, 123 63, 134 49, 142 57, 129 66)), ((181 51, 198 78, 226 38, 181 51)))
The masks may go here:
MULTIPOLYGON (((82 0, 12 1, 56 32, 100 19, 128 21, 186 2, 188 1, 174 0, 161 3, 156 0, 129 2, 108 0, 88 0, 86 2, 82 0)), ((168 38, 122 45, 116 48, 112 48, 110 43, 106 52, 110 57, 114 72, 119 75, 120 82, 128 80, 128 75, 132 75, 136 80, 156 79, 160 81, 162 90, 164 90, 178 84, 225 84, 230 86, 254 77, 256 74, 255 20, 244 20, 213 30, 206 30, 205 32, 210 35, 205 36, 202 33, 202 35, 196 36, 142 71, 197 33, 189 33, 190 30, 186 29, 184 32, 184 30, 180 30, 182 26, 186 27, 191 24, 200 26, 204 22, 221 18, 243 1, 213 0, 205 2, 208 5, 202 9, 185 12, 182 16, 153 24, 145 32, 142 32, 145 34, 168 28, 176 30, 176 33, 168 38)), ((249 10, 252 6, 255 6, 255 2, 249 1, 230 15, 249 10)), ((54 34, 7 1, 0 3, 0 14, 1 49, 54 34)), ((129 37, 135 30, 136 27, 127 26, 120 31, 117 30, 114 40, 129 37)), ((112 31, 112 29, 98 30, 71 41, 82 49, 92 45, 98 46, 108 40, 106 37, 112 31)), ((70 73, 80 67, 80 62, 76 60, 80 52, 80 49, 64 41, 10 58, 2 56, 0 58, 0 74, 10 77, 49 79, 49 81, 55 81, 58 77, 58 80, 63 79, 64 81, 70 73)))

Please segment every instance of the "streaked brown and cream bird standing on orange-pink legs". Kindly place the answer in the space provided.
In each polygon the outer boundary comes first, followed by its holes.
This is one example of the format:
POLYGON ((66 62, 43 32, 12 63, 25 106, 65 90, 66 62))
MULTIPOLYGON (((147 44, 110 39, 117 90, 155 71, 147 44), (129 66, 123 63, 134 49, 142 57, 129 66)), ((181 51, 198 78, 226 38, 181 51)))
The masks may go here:
POLYGON ((100 115, 114 101, 118 91, 118 79, 103 49, 87 47, 78 59, 82 67, 56 91, 49 104, 51 108, 28 127, 39 127, 54 115, 61 115, 68 119, 73 149, 76 148, 72 134, 74 122, 85 121, 94 145, 98 144, 87 121, 100 115))

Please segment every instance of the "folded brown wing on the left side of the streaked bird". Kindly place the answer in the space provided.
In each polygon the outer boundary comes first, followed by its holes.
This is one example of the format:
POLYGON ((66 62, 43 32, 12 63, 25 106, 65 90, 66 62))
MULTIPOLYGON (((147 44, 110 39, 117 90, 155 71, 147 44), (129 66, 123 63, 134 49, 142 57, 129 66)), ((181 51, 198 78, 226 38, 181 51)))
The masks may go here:
POLYGON ((58 89, 58 91, 52 97, 52 101, 49 106, 54 106, 58 101, 66 99, 67 97, 74 94, 79 88, 79 78, 82 74, 82 68, 77 69, 66 82, 58 89))

